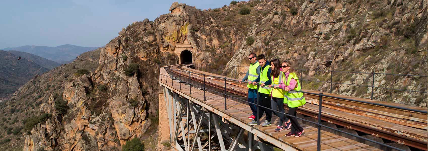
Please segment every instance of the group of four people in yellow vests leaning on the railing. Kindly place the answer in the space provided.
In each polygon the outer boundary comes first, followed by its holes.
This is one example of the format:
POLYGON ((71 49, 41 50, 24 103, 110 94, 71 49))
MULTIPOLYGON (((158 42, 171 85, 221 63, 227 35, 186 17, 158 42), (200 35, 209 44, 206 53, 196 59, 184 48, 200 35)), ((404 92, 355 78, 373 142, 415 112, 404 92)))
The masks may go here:
POLYGON ((273 113, 280 118, 275 132, 291 128, 291 131, 285 136, 301 136, 304 129, 296 118, 289 116, 296 116, 297 107, 306 104, 303 93, 291 91, 300 91, 301 89, 293 65, 287 61, 280 63, 278 59, 268 62, 263 54, 256 56, 255 53, 250 53, 248 59, 250 60, 250 68, 245 77, 239 80, 239 82, 248 81, 248 102, 253 103, 249 104, 253 114, 248 117, 253 120, 248 124, 256 125, 263 113, 266 113, 266 120, 262 126, 269 126, 272 124, 273 113), (258 101, 261 107, 259 107, 259 114, 257 115, 256 104, 258 101), (284 104, 288 106, 287 116, 284 115, 284 104))

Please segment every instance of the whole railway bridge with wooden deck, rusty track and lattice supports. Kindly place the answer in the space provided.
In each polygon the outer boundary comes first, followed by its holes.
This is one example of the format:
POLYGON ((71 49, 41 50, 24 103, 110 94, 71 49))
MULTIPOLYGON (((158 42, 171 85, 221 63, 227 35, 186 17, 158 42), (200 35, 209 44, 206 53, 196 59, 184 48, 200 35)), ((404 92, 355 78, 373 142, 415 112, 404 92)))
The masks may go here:
POLYGON ((427 151, 426 108, 302 89, 307 103, 295 117, 305 131, 285 137, 289 130, 273 131, 276 116, 272 126, 247 124, 247 87, 239 79, 195 66, 159 67, 169 127, 162 133, 176 151, 427 151))

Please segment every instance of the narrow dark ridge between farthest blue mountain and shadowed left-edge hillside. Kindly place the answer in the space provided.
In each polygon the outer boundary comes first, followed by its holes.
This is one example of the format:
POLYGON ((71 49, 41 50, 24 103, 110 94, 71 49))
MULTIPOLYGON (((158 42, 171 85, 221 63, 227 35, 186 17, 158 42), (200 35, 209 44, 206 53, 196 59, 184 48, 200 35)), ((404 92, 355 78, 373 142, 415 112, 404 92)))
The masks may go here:
POLYGON ((8 52, 15 54, 15 56, 21 56, 22 59, 29 59, 29 60, 33 61, 34 63, 41 65, 42 67, 45 67, 48 69, 53 69, 53 68, 61 65, 58 62, 54 62, 52 60, 49 60, 49 59, 31 54, 31 53, 15 51, 15 50, 9 50, 8 52))

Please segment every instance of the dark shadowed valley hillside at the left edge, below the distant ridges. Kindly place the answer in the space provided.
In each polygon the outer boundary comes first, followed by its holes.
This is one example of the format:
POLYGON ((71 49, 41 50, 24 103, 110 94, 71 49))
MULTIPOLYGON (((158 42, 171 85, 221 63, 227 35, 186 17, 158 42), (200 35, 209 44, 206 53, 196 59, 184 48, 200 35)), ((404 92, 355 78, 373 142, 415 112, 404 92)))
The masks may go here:
POLYGON ((0 50, 0 100, 11 95, 36 74, 49 71, 35 62, 13 53, 0 50))

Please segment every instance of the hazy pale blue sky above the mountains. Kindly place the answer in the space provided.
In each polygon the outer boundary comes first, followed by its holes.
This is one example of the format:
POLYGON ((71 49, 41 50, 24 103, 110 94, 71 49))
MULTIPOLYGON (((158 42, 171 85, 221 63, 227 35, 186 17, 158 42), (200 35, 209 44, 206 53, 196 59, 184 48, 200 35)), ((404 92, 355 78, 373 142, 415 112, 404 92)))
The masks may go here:
MULTIPOLYGON (((74 44, 100 47, 122 27, 169 13, 176 0, 2 0, 0 49, 24 45, 74 44)), ((181 0, 198 9, 229 5, 231 0, 181 0)))

